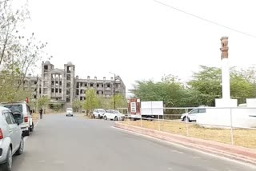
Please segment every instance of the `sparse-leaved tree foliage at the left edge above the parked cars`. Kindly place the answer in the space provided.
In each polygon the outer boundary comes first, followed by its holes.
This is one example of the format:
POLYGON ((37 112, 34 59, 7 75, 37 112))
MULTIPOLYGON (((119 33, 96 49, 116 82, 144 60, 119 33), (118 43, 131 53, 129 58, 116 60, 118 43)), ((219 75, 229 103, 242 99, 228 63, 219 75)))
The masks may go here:
POLYGON ((1 1, 0 14, 0 99, 24 100, 23 82, 42 60, 47 43, 38 42, 34 33, 22 34, 24 22, 30 18, 26 4, 15 9, 12 0, 1 1))

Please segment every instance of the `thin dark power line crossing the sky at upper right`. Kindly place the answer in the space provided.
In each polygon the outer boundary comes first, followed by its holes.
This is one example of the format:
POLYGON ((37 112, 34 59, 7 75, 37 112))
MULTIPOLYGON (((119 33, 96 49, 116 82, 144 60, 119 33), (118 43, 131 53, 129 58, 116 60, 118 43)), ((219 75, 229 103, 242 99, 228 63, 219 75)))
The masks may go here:
POLYGON ((178 10, 179 12, 182 12, 182 13, 184 13, 184 14, 190 15, 190 16, 192 16, 192 17, 194 17, 194 18, 198 18, 198 19, 200 19, 200 20, 202 20, 202 21, 204 21, 204 22, 210 22, 211 24, 214 24, 214 25, 216 25, 216 26, 221 26, 221 27, 226 28, 226 29, 228 29, 228 30, 232 30, 232 31, 234 31, 234 32, 237 32, 237 33, 239 33, 239 34, 245 34, 246 36, 249 36, 249 37, 252 37, 252 38, 256 38, 256 36, 255 36, 254 34, 248 34, 248 33, 246 33, 246 32, 233 29, 233 28, 231 28, 231 27, 229 27, 229 26, 224 26, 224 25, 222 25, 222 24, 219 24, 218 22, 210 21, 210 20, 208 20, 208 19, 206 19, 206 18, 202 18, 202 17, 200 17, 200 16, 198 16, 198 15, 191 14, 191 13, 189 13, 189 12, 186 12, 185 10, 178 9, 177 7, 170 6, 170 5, 166 4, 166 3, 159 2, 159 1, 157 1, 157 0, 154 0, 154 2, 158 2, 159 4, 162 4, 163 6, 167 6, 167 7, 171 8, 171 9, 173 9, 173 10, 178 10))

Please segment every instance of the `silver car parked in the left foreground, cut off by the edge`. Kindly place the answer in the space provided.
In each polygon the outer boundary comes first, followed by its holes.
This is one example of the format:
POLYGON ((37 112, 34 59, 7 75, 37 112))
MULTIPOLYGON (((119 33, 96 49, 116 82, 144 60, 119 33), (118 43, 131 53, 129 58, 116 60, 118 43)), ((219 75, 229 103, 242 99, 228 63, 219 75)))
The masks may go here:
POLYGON ((14 118, 10 109, 0 107, 0 170, 10 171, 12 167, 12 157, 15 154, 22 154, 24 141, 22 129, 18 126, 22 119, 14 118))

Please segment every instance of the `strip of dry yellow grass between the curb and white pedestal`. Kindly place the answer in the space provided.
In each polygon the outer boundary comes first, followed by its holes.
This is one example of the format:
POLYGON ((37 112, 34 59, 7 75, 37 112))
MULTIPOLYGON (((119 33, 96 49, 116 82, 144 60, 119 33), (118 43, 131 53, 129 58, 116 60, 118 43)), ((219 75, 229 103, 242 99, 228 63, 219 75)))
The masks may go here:
MULTIPOLYGON (((159 129, 168 133, 186 136, 186 123, 178 121, 123 121, 129 125, 141 126, 149 129, 159 129)), ((207 129, 195 124, 188 124, 188 136, 210 141, 231 144, 230 129, 207 129)), ((234 145, 256 149, 256 130, 233 129, 234 145)))

